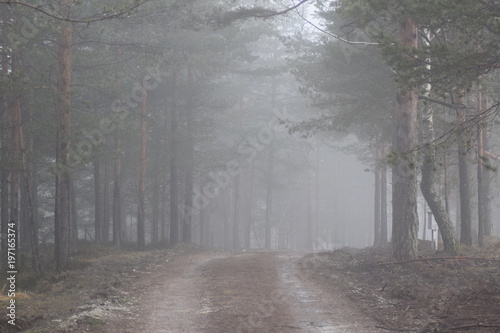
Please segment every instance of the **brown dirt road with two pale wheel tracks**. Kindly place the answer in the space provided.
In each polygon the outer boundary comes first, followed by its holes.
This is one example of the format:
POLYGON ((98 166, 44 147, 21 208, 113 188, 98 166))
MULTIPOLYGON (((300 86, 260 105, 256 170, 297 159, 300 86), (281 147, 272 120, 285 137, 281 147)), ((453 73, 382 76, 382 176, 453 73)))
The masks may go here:
POLYGON ((279 251, 178 256, 135 288, 138 313, 102 332, 379 332, 341 286, 324 290, 305 277, 300 258, 279 251))

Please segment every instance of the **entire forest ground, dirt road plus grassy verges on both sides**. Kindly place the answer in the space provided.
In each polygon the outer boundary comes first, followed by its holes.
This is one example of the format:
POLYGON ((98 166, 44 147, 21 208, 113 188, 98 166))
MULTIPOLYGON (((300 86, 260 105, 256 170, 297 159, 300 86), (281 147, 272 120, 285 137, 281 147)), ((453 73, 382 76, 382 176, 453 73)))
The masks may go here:
POLYGON ((500 332, 500 241, 420 252, 81 247, 67 272, 20 281, 18 328, 0 296, 0 332, 500 332))

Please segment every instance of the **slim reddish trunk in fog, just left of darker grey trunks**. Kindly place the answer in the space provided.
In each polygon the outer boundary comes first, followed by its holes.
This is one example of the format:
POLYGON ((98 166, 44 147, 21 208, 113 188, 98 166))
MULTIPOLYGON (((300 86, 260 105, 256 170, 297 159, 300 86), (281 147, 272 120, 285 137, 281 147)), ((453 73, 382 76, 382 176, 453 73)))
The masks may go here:
POLYGON ((139 198, 138 198, 138 209, 137 209, 137 248, 139 251, 144 251, 146 249, 146 233, 145 233, 145 223, 146 223, 146 147, 148 140, 148 133, 146 129, 146 122, 148 117, 147 108, 147 92, 144 87, 142 88, 142 100, 141 100, 141 151, 140 151, 140 171, 139 171, 139 198))

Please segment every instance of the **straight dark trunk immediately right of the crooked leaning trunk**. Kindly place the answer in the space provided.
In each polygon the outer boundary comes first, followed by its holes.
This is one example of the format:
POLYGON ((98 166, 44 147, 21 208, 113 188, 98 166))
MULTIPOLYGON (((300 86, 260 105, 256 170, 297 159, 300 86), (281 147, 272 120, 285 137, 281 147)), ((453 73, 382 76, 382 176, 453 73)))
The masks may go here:
MULTIPOLYGON (((458 99, 459 104, 463 104, 463 94, 458 99)), ((472 217, 470 208, 469 190, 469 163, 467 161, 468 144, 465 128, 466 111, 457 110, 458 120, 462 128, 458 132, 458 175, 460 179, 460 243, 472 245, 472 217)))

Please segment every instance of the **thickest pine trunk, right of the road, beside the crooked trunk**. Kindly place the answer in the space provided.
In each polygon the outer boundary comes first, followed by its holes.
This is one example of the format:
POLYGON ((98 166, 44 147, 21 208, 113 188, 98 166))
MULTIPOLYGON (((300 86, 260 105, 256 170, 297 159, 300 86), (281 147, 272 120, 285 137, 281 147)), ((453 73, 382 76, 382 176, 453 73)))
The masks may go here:
MULTIPOLYGON (((405 47, 417 47, 417 27, 405 19, 399 27, 399 40, 405 47)), ((414 91, 398 94, 398 108, 393 137, 393 153, 397 160, 392 168, 392 248, 393 258, 413 259, 418 251, 417 96, 414 91)))

